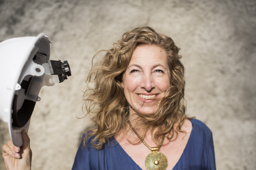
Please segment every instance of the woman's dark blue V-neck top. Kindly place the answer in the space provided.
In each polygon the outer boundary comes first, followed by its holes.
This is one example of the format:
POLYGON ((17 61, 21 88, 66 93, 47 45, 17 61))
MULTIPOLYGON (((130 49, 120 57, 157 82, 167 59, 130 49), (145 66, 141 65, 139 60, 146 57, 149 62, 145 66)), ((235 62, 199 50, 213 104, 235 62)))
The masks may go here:
MULTIPOLYGON (((188 143, 173 170, 215 170, 211 130, 199 120, 190 121, 193 128, 188 143)), ((141 170, 114 137, 101 150, 83 145, 82 141, 72 170, 141 170)))

